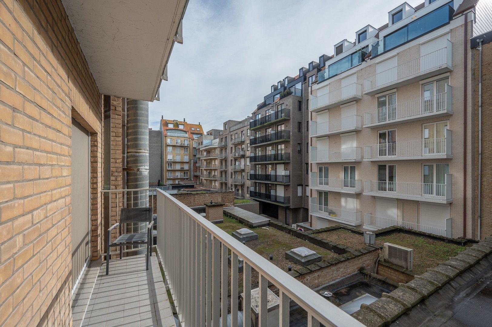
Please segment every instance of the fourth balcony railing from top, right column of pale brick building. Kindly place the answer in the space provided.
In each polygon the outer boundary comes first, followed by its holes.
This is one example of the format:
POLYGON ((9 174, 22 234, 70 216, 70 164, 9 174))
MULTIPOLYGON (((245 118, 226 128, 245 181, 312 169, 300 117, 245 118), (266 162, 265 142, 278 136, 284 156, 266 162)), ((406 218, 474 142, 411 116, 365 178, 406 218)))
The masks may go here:
POLYGON ((443 184, 365 180, 364 194, 394 199, 451 203, 453 202, 452 176, 446 174, 443 184))

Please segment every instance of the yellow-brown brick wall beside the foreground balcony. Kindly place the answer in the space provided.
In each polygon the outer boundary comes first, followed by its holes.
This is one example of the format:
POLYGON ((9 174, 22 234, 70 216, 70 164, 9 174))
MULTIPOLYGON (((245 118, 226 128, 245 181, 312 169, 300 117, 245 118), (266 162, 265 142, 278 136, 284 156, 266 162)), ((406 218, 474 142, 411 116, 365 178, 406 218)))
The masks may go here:
POLYGON ((101 96, 60 0, 0 0, 0 325, 71 325, 71 119, 91 133, 100 244, 101 96))

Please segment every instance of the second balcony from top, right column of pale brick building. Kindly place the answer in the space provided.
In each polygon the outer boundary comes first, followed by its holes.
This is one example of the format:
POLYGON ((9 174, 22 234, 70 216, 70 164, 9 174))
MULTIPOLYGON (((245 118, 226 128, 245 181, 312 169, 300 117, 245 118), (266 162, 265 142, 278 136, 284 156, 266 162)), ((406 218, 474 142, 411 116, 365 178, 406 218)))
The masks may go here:
POLYGON ((401 102, 371 110, 364 114, 364 127, 376 128, 402 122, 453 115, 452 87, 446 84, 444 93, 401 102))

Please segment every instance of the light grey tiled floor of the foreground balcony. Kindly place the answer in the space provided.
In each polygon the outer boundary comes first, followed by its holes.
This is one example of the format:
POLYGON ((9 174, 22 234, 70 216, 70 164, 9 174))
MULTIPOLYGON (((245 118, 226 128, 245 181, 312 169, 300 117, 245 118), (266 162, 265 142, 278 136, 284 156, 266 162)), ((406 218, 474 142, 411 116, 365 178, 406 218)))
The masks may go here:
POLYGON ((102 263, 82 326, 175 327, 166 288, 153 253, 149 270, 145 255, 102 263))

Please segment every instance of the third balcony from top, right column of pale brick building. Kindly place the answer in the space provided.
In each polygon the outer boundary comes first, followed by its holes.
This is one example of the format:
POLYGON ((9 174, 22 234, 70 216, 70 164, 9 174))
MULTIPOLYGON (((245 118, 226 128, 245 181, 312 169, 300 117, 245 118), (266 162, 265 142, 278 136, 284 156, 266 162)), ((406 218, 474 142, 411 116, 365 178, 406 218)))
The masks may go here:
POLYGON ((364 146, 364 161, 453 158, 452 131, 446 137, 364 146))

